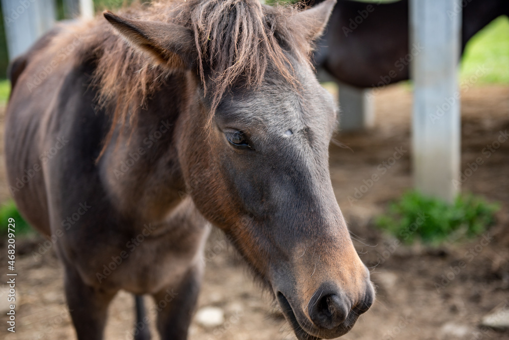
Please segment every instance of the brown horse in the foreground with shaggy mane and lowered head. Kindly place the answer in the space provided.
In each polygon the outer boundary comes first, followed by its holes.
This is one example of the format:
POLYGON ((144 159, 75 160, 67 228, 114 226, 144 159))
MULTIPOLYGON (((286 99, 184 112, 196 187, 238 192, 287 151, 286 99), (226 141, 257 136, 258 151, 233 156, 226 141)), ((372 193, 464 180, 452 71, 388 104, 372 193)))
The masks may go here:
POLYGON ((161 337, 185 339, 209 222, 299 339, 341 336, 371 306, 330 181, 337 112, 309 62, 334 2, 105 12, 13 63, 10 188, 55 242, 78 339, 102 338, 121 289, 164 302, 161 337))

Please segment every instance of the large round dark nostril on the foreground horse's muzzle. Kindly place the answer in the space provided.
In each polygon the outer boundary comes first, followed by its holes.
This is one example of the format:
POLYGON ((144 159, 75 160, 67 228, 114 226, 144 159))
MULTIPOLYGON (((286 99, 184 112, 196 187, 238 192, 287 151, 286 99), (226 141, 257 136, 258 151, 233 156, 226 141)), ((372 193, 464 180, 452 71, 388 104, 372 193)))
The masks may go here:
POLYGON ((321 328, 336 328, 345 322, 350 311, 350 304, 338 294, 320 294, 309 302, 309 317, 321 328))

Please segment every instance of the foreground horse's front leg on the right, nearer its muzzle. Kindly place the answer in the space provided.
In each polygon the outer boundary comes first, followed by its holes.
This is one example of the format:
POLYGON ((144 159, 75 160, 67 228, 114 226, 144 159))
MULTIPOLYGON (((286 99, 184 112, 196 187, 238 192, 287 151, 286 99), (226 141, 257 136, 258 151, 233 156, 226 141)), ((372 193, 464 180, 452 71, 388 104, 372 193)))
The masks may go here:
POLYGON ((190 268, 178 287, 154 294, 157 329, 161 340, 186 340, 189 324, 200 292, 202 269, 190 268))

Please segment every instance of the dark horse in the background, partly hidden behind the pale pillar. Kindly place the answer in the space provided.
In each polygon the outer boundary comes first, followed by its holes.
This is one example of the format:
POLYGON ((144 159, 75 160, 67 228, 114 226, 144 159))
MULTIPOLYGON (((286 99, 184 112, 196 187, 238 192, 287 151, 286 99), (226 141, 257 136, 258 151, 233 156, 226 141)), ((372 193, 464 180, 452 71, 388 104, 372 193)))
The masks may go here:
MULTIPOLYGON (((322 0, 307 0, 312 6, 322 0)), ((327 29, 317 43, 315 63, 337 80, 359 88, 409 79, 409 0, 365 3, 337 0, 327 29)), ((468 40, 500 15, 507 0, 464 0, 461 50, 468 40)), ((459 15, 458 12, 448 15, 459 15)), ((508 42, 509 43, 509 42, 508 42)))

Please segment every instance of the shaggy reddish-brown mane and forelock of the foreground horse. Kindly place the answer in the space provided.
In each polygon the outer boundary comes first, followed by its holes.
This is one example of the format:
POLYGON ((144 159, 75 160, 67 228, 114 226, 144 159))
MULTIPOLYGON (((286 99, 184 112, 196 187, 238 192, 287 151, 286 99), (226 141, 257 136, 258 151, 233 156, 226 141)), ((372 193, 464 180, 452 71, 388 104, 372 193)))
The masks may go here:
MULTIPOLYGON (((212 100, 212 118, 233 84, 256 88, 269 67, 296 84, 285 50, 291 50, 298 62, 309 64, 312 50, 302 27, 286 25, 286 18, 296 11, 297 6, 262 6, 259 0, 169 0, 124 9, 118 14, 129 19, 172 22, 193 32, 198 72, 212 100)), ((93 85, 99 93, 98 104, 113 114, 106 146, 116 125, 135 123, 137 112, 175 70, 155 65, 146 54, 114 34, 102 16, 89 23, 84 40, 82 59, 93 59, 97 65, 93 85)))

